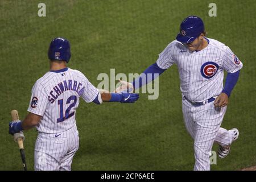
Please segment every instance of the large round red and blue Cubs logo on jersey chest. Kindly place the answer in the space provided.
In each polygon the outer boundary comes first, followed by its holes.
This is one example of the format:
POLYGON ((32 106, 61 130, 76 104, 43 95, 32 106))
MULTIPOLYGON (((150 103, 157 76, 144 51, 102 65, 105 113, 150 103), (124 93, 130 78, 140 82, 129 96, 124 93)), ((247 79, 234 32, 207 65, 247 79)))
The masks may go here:
POLYGON ((214 75, 216 75, 217 71, 218 64, 211 61, 204 63, 201 66, 201 75, 207 79, 212 78, 214 75))

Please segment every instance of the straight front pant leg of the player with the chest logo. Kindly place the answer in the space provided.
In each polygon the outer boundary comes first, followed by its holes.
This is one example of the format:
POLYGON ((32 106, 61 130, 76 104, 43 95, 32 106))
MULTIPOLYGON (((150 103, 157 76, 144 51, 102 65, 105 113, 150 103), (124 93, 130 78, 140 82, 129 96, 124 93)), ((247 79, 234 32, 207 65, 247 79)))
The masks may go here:
POLYGON ((195 126, 195 167, 194 170, 210 170, 210 151, 220 129, 226 107, 216 108, 213 102, 198 107, 195 126))

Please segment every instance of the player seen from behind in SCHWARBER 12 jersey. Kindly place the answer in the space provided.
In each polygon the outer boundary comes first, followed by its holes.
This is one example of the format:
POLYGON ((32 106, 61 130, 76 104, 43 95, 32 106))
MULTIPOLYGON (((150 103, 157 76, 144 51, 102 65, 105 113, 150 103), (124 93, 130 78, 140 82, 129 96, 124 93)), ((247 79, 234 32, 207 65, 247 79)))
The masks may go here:
POLYGON ((79 98, 85 102, 133 103, 133 93, 99 93, 81 72, 67 67, 70 44, 64 38, 52 40, 48 49, 50 71, 32 88, 28 115, 23 121, 10 122, 9 133, 36 127, 35 170, 71 170, 73 156, 79 148, 76 109, 79 98))

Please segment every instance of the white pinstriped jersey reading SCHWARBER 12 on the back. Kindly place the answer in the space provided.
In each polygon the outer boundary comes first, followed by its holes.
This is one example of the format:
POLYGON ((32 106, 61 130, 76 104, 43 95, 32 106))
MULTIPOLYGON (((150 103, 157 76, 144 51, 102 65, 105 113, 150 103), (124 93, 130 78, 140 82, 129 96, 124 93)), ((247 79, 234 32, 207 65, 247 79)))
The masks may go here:
POLYGON ((97 95, 98 89, 81 72, 71 68, 49 71, 33 86, 28 111, 42 116, 36 126, 40 133, 61 133, 76 125, 79 97, 92 102, 97 95))

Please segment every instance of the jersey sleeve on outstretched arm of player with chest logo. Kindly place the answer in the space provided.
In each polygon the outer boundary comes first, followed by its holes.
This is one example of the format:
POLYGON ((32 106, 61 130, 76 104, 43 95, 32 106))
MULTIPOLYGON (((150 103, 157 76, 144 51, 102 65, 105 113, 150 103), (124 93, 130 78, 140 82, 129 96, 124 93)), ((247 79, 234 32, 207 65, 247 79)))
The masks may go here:
POLYGON ((168 69, 174 64, 174 59, 171 56, 172 46, 169 44, 163 52, 159 54, 158 60, 156 64, 158 64, 159 68, 168 69))

